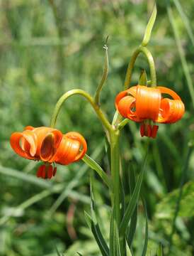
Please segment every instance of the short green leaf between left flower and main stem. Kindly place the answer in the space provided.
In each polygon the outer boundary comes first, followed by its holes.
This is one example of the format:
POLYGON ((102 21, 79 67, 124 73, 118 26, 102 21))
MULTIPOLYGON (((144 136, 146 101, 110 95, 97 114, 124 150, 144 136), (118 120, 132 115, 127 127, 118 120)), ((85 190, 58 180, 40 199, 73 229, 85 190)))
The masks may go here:
POLYGON ((94 171, 97 172, 97 174, 102 178, 104 183, 108 186, 108 188, 111 188, 111 183, 110 183, 110 178, 108 177, 107 174, 105 174, 105 171, 99 166, 99 164, 96 163, 93 159, 91 159, 90 156, 85 154, 85 156, 82 159, 85 164, 91 167, 94 171))

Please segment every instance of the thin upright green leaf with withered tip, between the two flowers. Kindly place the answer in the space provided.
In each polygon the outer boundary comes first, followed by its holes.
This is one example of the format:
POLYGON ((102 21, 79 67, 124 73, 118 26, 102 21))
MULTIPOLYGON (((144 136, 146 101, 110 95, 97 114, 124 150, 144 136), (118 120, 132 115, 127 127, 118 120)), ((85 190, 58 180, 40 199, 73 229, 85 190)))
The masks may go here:
MULTIPOLYGON (((107 40, 108 40, 108 38, 106 39, 106 41, 107 40)), ((103 89, 103 85, 108 76, 108 47, 106 45, 104 45, 103 48, 105 49, 105 64, 104 64, 103 76, 101 78, 101 82, 99 83, 99 85, 96 89, 96 94, 94 96, 94 101, 98 106, 100 105, 101 90, 103 89)))

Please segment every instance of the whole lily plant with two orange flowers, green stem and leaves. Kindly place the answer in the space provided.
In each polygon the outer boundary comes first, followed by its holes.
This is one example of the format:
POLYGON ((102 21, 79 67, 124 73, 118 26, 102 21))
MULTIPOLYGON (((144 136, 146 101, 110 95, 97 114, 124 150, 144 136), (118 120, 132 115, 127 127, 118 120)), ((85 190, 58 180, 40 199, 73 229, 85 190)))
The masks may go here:
MULTIPOLYGON (((157 86, 154 58, 147 45, 156 19, 156 5, 149 18, 144 38, 140 46, 132 54, 127 68, 124 87, 115 97, 115 114, 113 121, 108 120, 100 104, 101 91, 108 77, 108 47, 105 45, 105 65, 103 76, 94 96, 80 89, 69 90, 59 98, 52 114, 50 127, 25 127, 23 132, 14 132, 11 135, 11 147, 16 153, 26 159, 42 161, 37 176, 52 178, 57 171, 57 164, 67 165, 82 160, 101 177, 110 194, 110 232, 109 240, 105 240, 101 227, 96 218, 96 204, 93 199, 93 179, 91 178, 91 213, 85 213, 93 237, 103 256, 130 256, 132 255, 132 238, 135 235, 135 225, 132 216, 138 206, 139 193, 144 178, 144 158, 139 177, 130 201, 126 199, 122 189, 122 169, 120 163, 120 134, 128 122, 140 124, 140 135, 156 138, 159 126, 156 123, 174 123, 184 114, 184 104, 181 98, 167 87, 157 86), (147 80, 146 72, 140 75, 137 85, 130 86, 132 70, 139 54, 142 53, 149 63, 151 80, 147 80), (91 105, 103 125, 105 137, 110 149, 110 174, 107 174, 94 159, 86 154, 87 144, 84 137, 78 132, 63 134, 55 128, 59 111, 69 97, 80 95, 91 105), (166 96, 168 95, 168 97, 166 96)), ((148 140, 149 140, 148 139, 148 140)), ((149 144, 149 142, 147 143, 149 144)), ((148 149, 147 149, 148 151, 148 149)), ((108 151, 107 151, 107 154, 108 151)), ((146 215, 146 228, 142 255, 146 255, 148 242, 148 221, 146 206, 143 203, 146 215)))

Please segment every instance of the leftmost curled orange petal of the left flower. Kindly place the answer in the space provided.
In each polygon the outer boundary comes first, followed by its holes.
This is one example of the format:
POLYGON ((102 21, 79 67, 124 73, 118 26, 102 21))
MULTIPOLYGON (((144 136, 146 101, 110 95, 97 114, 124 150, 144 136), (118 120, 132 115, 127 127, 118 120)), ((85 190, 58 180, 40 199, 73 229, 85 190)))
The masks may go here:
POLYGON ((16 154, 26 159, 36 159, 37 141, 33 132, 14 132, 11 134, 10 144, 16 154))

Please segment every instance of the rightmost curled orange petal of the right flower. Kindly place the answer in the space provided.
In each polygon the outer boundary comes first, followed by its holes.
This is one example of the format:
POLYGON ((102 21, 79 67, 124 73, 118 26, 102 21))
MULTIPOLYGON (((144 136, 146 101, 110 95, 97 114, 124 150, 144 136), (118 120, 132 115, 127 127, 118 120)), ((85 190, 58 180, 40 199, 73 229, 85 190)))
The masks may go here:
POLYGON ((161 100, 161 110, 159 115, 160 123, 173 123, 177 122, 185 112, 185 106, 181 100, 161 100))

